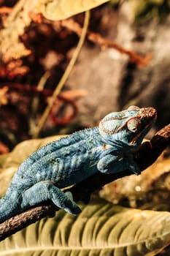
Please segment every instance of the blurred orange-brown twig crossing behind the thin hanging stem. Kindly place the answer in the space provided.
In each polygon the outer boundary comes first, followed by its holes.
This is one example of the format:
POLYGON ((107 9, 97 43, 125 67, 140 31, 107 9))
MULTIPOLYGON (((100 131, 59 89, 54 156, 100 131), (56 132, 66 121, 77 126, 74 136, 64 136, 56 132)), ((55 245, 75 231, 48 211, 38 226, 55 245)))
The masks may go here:
MULTIPOLYGON (((79 37, 82 31, 82 27, 79 23, 75 22, 72 19, 61 20, 61 25, 74 31, 79 37)), ((116 42, 110 41, 101 37, 101 34, 94 33, 92 31, 87 32, 87 37, 91 42, 94 42, 96 45, 101 48, 114 48, 120 53, 124 53, 129 56, 131 62, 136 63, 137 67, 145 67, 151 60, 151 55, 147 54, 146 56, 140 56, 137 53, 134 53, 132 50, 127 50, 122 46, 118 45, 116 42)))

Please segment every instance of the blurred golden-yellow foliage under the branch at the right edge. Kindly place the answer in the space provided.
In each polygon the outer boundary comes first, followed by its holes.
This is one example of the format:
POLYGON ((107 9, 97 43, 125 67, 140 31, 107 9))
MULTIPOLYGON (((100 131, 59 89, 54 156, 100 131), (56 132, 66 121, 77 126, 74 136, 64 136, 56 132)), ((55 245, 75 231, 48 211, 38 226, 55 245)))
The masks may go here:
POLYGON ((169 209, 169 195, 170 158, 158 159, 153 165, 150 165, 150 167, 142 171, 141 175, 131 175, 120 178, 107 184, 100 191, 100 196, 112 203, 118 203, 123 200, 123 198, 128 198, 133 207, 136 207, 134 206, 135 200, 142 202, 143 198, 145 203, 146 200, 148 200, 149 203, 152 196, 151 201, 153 207, 157 204, 161 205, 163 200, 166 200, 167 210, 169 209))

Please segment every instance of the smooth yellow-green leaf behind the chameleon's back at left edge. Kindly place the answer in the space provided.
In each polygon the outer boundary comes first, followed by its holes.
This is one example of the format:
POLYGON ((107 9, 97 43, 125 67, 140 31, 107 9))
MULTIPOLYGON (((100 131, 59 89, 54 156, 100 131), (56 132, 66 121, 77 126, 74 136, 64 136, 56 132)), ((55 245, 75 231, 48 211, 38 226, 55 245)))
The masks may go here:
POLYGON ((12 176, 18 169, 18 166, 26 157, 36 151, 38 148, 50 143, 53 140, 58 140, 61 136, 52 136, 43 139, 26 140, 19 143, 18 146, 9 154, 0 156, 0 196, 4 195, 11 181, 12 176))

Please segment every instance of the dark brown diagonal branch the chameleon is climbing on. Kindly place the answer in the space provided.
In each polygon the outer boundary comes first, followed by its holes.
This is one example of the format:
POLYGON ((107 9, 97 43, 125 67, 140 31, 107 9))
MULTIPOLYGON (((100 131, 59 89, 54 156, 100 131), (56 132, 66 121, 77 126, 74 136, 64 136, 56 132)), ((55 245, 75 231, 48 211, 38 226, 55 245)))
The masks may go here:
MULTIPOLYGON (((170 124, 163 127, 158 131, 150 140, 150 142, 145 142, 139 147, 139 150, 134 154, 134 159, 138 163, 141 170, 144 170, 148 166, 152 165, 153 162, 159 157, 162 151, 170 144, 170 124)), ((70 192, 72 192, 74 200, 82 200, 87 203, 90 199, 90 194, 96 189, 104 186, 105 184, 115 181, 117 178, 122 178, 123 176, 130 176, 132 173, 130 170, 124 170, 121 173, 115 174, 104 174, 96 173, 79 184, 74 185, 70 192)), ((0 224, 0 241, 4 240, 8 236, 18 230, 22 230, 23 227, 27 227, 31 223, 38 221, 44 217, 53 217, 55 211, 59 209, 56 208, 52 203, 46 202, 43 206, 35 206, 21 214, 16 215, 8 219, 7 221, 0 224)))

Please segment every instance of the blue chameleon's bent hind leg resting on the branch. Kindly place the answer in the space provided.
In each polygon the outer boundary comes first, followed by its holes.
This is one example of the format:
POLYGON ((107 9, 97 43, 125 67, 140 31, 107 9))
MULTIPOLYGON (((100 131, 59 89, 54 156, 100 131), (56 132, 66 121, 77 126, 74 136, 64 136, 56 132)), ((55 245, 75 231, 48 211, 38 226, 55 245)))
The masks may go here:
POLYGON ((21 208, 24 210, 43 201, 52 200, 55 206, 63 208, 70 214, 80 214, 80 208, 68 195, 50 181, 39 181, 22 193, 21 208))

